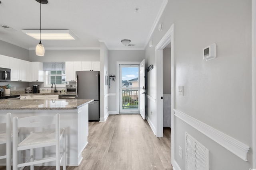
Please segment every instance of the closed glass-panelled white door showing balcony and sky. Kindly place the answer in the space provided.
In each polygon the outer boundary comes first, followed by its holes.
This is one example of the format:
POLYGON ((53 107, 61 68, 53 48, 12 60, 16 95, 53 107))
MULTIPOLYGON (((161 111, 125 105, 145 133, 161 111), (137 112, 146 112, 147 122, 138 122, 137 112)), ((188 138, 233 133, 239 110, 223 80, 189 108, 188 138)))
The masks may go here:
POLYGON ((139 64, 119 65, 119 112, 139 113, 139 64))

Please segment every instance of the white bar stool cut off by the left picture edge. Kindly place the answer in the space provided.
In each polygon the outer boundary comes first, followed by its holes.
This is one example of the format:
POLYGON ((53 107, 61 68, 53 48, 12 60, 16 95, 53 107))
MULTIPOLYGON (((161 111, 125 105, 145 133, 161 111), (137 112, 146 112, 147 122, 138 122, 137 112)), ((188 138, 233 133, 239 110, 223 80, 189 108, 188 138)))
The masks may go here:
POLYGON ((6 155, 0 156, 0 159, 6 158, 6 170, 11 170, 11 143, 12 143, 12 134, 11 134, 11 113, 6 115, 0 115, 0 124, 6 123, 6 129, 0 131, 0 144, 6 143, 6 155))

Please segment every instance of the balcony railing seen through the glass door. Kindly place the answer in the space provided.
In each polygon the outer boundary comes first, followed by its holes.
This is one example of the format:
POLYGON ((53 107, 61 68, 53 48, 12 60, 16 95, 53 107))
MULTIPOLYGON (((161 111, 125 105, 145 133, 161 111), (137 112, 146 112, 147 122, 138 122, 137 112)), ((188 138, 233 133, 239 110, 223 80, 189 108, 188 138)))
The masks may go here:
POLYGON ((138 109, 138 89, 122 89, 122 109, 138 109))

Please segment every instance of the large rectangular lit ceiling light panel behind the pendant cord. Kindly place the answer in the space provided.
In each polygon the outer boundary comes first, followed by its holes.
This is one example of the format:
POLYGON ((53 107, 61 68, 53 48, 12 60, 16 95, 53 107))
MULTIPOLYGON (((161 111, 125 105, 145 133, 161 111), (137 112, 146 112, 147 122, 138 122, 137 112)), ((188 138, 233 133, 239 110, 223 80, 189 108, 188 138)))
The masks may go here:
MULTIPOLYGON (((40 39, 40 30, 22 30, 25 34, 35 38, 40 39)), ((77 36, 68 29, 44 29, 41 30, 41 39, 48 40, 72 40, 76 39, 77 36)))

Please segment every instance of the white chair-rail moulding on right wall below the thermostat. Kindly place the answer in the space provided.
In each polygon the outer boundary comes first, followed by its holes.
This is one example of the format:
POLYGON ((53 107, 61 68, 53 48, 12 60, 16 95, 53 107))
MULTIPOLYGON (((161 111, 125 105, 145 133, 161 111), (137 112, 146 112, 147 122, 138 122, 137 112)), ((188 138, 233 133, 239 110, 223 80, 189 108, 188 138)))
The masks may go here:
POLYGON ((248 161, 247 152, 250 149, 248 145, 226 135, 225 133, 222 133, 221 131, 218 131, 217 129, 214 129, 213 127, 210 127, 209 125, 206 125, 205 123, 187 115, 186 113, 183 113, 182 111, 174 109, 174 112, 174 116, 188 123, 188 125, 194 127, 216 143, 220 144, 222 147, 234 153, 242 160, 248 161))

